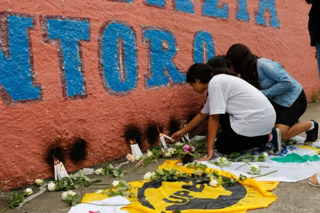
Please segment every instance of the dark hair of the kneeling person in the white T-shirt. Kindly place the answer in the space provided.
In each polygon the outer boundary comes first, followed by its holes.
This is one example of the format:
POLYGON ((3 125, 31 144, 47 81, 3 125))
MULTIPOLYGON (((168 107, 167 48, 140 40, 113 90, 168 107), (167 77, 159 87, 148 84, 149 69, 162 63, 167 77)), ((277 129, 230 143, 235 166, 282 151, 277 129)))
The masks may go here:
POLYGON ((201 83, 208 83, 217 74, 236 76, 236 73, 228 68, 220 67, 212 69, 208 64, 194 63, 186 73, 186 82, 194 83, 195 79, 199 79, 201 83))

